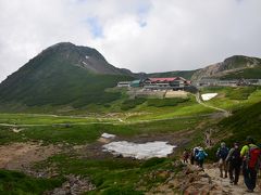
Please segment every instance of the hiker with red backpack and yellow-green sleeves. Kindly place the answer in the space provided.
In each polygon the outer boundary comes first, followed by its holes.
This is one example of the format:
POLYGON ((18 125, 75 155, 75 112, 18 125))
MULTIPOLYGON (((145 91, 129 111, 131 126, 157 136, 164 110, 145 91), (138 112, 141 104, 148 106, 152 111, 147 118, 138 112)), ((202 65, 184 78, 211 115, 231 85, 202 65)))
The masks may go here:
POLYGON ((243 158, 244 182, 248 187, 248 193, 252 193, 256 187, 258 169, 260 168, 260 155, 261 150, 254 144, 253 139, 247 136, 246 145, 243 146, 240 156, 243 158))

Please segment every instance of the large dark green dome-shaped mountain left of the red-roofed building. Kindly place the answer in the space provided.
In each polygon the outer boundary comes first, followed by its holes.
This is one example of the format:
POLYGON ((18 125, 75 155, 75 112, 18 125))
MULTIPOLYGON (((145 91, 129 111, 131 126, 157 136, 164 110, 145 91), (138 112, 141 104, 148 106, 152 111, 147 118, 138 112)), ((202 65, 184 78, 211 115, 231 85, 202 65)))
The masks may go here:
POLYGON ((95 49, 58 43, 40 52, 0 84, 0 104, 84 106, 119 98, 108 93, 133 77, 110 65, 95 49), (85 62, 85 63, 83 63, 85 62))

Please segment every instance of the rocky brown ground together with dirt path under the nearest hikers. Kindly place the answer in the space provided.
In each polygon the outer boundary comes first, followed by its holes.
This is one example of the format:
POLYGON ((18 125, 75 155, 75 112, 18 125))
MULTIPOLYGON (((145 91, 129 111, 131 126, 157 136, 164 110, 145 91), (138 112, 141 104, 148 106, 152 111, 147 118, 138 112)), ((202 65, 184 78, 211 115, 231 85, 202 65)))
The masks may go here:
POLYGON ((177 174, 170 173, 164 184, 152 187, 147 194, 258 195, 261 194, 260 181, 254 193, 247 193, 246 190, 243 176, 238 185, 232 185, 229 179, 220 178, 219 169, 214 165, 206 165, 204 169, 188 165, 177 174))

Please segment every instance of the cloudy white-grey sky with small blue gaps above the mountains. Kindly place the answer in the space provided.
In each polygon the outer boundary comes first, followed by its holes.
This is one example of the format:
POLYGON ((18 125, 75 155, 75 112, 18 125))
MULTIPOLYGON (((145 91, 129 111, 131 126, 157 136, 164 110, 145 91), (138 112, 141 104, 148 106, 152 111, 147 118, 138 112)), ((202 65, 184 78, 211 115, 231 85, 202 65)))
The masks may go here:
POLYGON ((261 0, 0 0, 0 81, 61 41, 133 72, 261 57, 261 0))

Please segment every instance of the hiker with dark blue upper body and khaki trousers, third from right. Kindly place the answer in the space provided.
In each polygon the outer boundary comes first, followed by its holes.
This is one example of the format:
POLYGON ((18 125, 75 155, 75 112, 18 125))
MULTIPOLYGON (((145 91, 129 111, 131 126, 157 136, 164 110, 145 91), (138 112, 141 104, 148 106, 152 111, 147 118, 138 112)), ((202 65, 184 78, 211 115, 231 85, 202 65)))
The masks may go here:
POLYGON ((219 159, 220 177, 223 178, 223 170, 225 171, 225 178, 227 178, 227 166, 226 157, 228 155, 228 148, 225 145, 225 142, 221 143, 221 147, 216 152, 216 157, 219 159))

